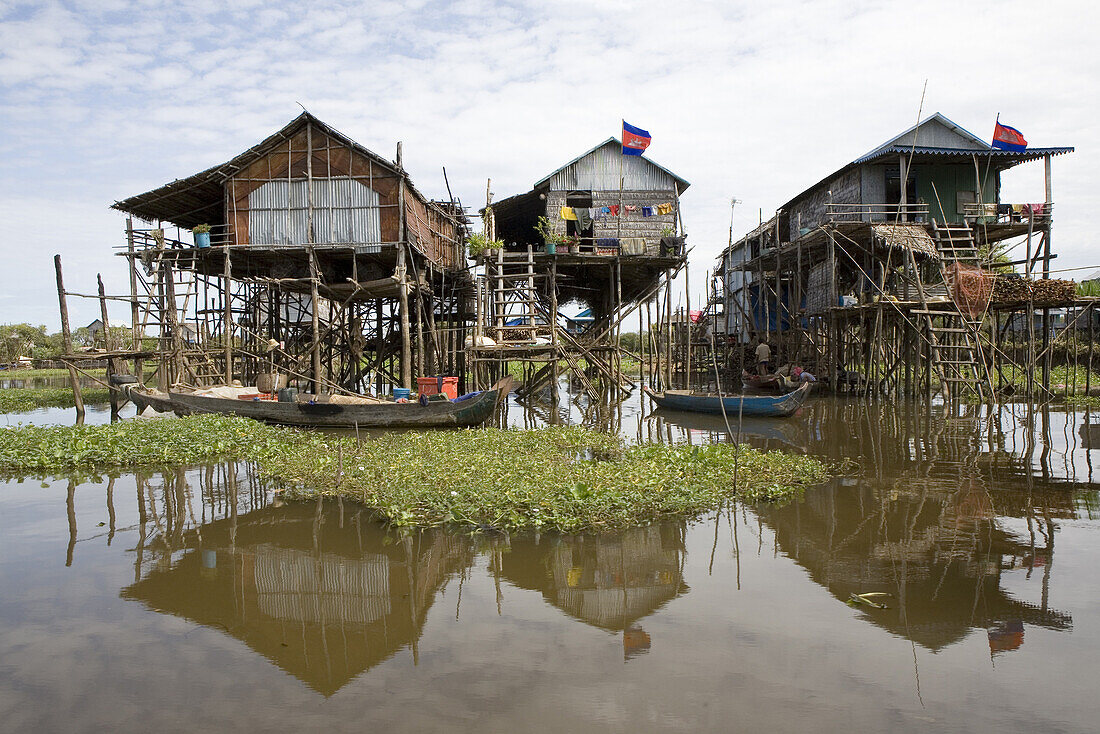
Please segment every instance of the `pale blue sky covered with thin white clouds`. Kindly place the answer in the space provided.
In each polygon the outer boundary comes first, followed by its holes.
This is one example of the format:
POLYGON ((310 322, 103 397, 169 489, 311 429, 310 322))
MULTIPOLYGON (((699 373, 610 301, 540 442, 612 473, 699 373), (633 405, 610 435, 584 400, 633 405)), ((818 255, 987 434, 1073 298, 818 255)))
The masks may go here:
MULTIPOLYGON (((66 287, 129 292, 110 205, 228 161, 305 107, 474 209, 610 135, 691 182, 696 295, 727 244, 795 194, 942 112, 998 113, 1053 164, 1055 269, 1100 269, 1100 10, 1091 2, 0 0, 0 324, 59 328, 66 287), (230 6, 230 9, 227 9, 230 6), (926 91, 925 91, 926 85, 926 91)), ((1042 162, 1002 200, 1043 199, 1042 162)), ((1068 271, 1078 276, 1084 271, 1068 271)), ((74 327, 98 304, 72 299, 74 327)), ((123 306, 112 316, 129 318, 123 306)))

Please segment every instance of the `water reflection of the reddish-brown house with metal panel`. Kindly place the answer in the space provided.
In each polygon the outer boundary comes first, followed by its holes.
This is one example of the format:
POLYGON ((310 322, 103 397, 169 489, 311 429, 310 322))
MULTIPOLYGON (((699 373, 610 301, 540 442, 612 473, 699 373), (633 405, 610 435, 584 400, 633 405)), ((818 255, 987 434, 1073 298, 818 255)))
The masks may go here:
POLYGON ((424 533, 385 545, 334 507, 265 507, 187 534, 182 557, 123 599, 217 627, 331 695, 406 646, 414 653, 469 539, 424 533))

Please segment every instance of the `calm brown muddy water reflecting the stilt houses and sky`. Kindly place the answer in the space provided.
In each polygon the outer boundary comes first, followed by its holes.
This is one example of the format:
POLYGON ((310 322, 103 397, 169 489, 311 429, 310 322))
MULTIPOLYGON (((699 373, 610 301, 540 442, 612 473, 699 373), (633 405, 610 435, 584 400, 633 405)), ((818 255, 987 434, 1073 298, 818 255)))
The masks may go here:
POLYGON ((10 480, 0 728, 1096 731, 1100 415, 815 398, 741 438, 851 465, 787 506, 510 537, 282 505, 248 465, 10 480))

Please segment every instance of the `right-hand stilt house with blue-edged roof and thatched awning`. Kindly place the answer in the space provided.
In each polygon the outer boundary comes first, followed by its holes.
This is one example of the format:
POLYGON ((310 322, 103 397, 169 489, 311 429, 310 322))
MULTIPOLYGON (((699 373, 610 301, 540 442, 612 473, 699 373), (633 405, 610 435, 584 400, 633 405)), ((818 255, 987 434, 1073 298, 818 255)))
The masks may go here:
MULTIPOLYGON (((825 176, 727 248, 716 273, 722 289, 713 306, 726 316, 718 322, 733 342, 772 341, 780 360, 866 373, 881 366, 875 350, 897 326, 890 317, 900 317, 923 325, 926 333, 913 338, 931 344, 921 353, 944 382, 980 390, 988 377, 977 343, 985 306, 960 308, 960 288, 993 264, 1048 273, 1050 160, 1072 150, 992 150, 937 112, 825 176), (1045 162, 1045 193, 1032 202, 1001 201, 1001 173, 1036 160, 1045 162), (1013 261, 1018 244, 1026 256, 1013 261)), ((899 357, 890 351, 884 359, 897 379, 899 357)))

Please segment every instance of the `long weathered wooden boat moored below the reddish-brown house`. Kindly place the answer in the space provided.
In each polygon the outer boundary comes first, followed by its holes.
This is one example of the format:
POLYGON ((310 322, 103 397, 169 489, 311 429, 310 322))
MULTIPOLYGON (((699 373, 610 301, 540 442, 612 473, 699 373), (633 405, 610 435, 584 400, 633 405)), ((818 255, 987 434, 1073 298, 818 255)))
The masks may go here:
POLYGON ((460 428, 480 426, 488 420, 501 401, 512 392, 513 384, 514 380, 505 376, 492 388, 472 397, 459 402, 432 401, 427 405, 388 401, 279 403, 191 393, 170 393, 170 396, 172 407, 179 415, 219 413, 314 428, 460 428))

